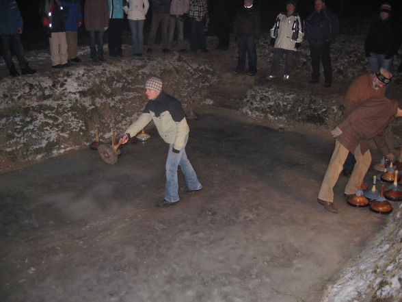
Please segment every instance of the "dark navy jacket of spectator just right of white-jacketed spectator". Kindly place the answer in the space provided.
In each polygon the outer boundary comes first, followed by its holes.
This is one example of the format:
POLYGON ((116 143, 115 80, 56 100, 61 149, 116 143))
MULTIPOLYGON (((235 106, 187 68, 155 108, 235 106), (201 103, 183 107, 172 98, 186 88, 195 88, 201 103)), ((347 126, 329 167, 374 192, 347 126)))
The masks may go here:
POLYGON ((327 8, 319 13, 314 11, 306 18, 306 38, 311 46, 332 42, 338 35, 338 17, 327 8))

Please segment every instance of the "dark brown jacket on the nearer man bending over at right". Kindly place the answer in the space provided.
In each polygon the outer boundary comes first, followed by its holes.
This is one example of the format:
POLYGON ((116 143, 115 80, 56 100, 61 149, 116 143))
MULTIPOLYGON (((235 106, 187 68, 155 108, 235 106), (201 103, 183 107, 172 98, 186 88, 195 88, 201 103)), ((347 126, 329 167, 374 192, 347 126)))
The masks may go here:
POLYGON ((343 147, 354 153, 360 144, 362 154, 369 149, 372 138, 381 153, 390 153, 386 144, 384 130, 398 111, 398 102, 386 97, 371 97, 354 108, 338 125, 342 134, 338 140, 343 147))

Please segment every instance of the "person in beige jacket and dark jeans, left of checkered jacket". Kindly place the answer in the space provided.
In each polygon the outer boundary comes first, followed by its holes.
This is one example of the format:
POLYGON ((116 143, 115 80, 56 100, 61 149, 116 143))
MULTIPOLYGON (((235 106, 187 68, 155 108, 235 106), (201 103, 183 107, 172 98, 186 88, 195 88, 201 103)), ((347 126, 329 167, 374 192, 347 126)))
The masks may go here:
POLYGON ((169 45, 172 47, 174 37, 174 27, 177 28, 177 44, 179 51, 186 51, 184 47, 184 19, 189 12, 190 0, 172 0, 170 5, 170 19, 169 19, 169 45))

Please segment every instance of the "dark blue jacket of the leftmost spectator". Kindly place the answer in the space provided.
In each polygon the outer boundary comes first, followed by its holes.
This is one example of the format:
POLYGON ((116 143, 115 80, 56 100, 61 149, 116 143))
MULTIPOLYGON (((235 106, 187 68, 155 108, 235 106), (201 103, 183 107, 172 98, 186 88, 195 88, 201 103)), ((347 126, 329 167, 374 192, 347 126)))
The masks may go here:
POLYGON ((0 35, 18 33, 24 23, 15 0, 0 0, 0 35))

